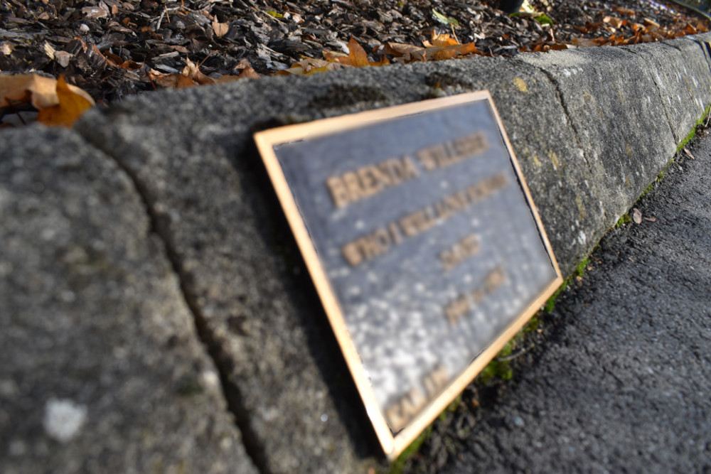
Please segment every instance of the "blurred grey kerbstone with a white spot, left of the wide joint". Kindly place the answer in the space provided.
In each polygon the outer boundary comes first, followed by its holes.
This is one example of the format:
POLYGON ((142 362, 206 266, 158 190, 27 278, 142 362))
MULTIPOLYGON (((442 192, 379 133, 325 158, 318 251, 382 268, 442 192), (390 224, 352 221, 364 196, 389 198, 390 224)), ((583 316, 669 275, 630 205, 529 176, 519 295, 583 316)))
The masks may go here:
POLYGON ((0 242, 0 472, 256 472, 111 158, 70 131, 3 131, 0 242))

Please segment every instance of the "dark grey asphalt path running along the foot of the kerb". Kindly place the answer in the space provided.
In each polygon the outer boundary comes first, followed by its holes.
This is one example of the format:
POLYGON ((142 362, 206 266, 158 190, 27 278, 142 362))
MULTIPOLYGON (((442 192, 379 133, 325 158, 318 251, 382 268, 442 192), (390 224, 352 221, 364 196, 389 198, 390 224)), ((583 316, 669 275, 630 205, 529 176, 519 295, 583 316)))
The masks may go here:
POLYGON ((528 367, 416 470, 711 473, 711 134, 687 149, 562 293, 528 367))

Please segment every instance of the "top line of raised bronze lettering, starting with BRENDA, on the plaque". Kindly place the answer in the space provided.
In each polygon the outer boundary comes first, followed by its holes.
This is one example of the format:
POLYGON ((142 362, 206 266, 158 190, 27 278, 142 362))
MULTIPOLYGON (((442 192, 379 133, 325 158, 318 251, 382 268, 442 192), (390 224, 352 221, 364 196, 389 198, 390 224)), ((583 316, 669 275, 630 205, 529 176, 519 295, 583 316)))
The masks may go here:
MULTIPOLYGON (((486 135, 480 132, 419 150, 415 156, 426 171, 434 171, 472 158, 487 149, 486 135)), ((418 176, 419 170, 412 158, 402 156, 331 176, 326 180, 326 187, 333 204, 341 208, 418 176)))

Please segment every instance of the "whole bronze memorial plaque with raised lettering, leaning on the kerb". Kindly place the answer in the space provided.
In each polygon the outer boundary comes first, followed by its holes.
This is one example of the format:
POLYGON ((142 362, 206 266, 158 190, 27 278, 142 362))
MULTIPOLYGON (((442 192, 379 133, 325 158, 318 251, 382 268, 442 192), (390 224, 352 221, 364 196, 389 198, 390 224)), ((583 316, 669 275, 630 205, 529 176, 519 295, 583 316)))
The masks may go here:
POLYGON ((488 92, 255 134, 395 458, 562 279, 488 92))

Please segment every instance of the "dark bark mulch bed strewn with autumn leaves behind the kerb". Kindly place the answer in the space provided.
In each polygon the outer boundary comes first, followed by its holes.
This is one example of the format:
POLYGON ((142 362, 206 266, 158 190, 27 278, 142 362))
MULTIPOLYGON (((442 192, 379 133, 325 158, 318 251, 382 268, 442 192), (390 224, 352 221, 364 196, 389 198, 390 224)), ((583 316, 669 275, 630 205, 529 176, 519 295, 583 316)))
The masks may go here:
POLYGON ((707 29, 693 12, 655 0, 533 0, 552 26, 497 6, 480 0, 0 0, 0 71, 65 75, 109 103, 165 85, 156 75, 179 75, 190 62, 210 77, 250 67, 265 75, 304 56, 348 53, 351 37, 371 60, 382 60, 388 42, 422 46, 433 29, 451 33, 433 9, 458 21, 459 42, 493 56, 658 41, 707 29))

